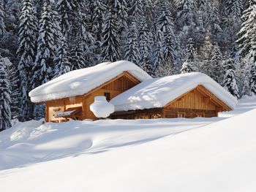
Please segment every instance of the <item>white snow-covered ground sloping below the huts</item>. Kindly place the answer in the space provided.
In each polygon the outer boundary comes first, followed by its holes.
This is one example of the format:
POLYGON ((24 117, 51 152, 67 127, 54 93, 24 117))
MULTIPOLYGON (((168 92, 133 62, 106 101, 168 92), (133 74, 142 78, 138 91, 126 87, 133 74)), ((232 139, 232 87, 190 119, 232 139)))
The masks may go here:
POLYGON ((256 99, 219 118, 17 123, 1 191, 256 191, 256 99))

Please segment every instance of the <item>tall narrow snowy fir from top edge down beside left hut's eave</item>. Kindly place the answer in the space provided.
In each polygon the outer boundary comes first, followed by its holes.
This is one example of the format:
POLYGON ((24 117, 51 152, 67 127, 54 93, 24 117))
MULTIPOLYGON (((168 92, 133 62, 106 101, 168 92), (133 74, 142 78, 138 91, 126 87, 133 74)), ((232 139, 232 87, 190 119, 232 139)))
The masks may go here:
POLYGON ((20 77, 20 120, 29 120, 29 109, 32 107, 28 98, 31 87, 31 70, 34 64, 34 55, 37 41, 37 18, 31 0, 23 0, 20 14, 19 39, 18 39, 18 72, 20 77))

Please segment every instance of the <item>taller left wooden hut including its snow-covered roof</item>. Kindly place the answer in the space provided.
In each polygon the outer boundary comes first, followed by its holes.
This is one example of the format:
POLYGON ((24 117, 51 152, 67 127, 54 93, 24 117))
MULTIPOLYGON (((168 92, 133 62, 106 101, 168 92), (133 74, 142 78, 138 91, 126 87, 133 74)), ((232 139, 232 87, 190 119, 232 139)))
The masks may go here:
POLYGON ((103 63, 63 74, 35 88, 29 96, 31 101, 45 104, 46 122, 96 120, 89 110, 95 96, 106 96, 110 101, 118 94, 151 78, 129 61, 103 63))

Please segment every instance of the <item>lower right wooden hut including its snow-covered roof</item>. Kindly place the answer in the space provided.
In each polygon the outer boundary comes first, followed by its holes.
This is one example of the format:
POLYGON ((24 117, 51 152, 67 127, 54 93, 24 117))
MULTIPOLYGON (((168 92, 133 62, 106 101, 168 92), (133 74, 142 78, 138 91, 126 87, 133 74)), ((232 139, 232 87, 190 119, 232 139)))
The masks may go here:
POLYGON ((150 119, 217 117, 237 100, 211 77, 193 72, 146 80, 110 102, 116 107, 111 118, 150 119))

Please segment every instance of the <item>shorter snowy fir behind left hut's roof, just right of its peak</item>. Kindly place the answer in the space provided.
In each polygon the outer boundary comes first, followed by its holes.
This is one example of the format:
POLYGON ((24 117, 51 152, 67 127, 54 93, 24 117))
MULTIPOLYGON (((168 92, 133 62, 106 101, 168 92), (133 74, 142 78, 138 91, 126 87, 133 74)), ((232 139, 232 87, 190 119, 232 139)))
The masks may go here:
POLYGON ((138 29, 135 22, 132 22, 127 32, 127 40, 124 47, 124 58, 134 64, 139 62, 138 29))

